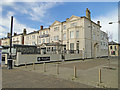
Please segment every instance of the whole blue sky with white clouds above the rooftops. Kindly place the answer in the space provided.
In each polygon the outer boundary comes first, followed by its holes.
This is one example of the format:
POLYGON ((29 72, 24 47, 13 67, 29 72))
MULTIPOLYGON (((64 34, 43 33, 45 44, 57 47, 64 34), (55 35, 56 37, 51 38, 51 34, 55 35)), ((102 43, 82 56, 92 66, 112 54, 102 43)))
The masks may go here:
POLYGON ((118 41, 117 2, 2 2, 0 3, 0 38, 10 32, 10 18, 13 16, 13 32, 27 33, 39 30, 43 25, 49 27, 55 20, 65 21, 72 15, 85 16, 86 8, 91 12, 94 22, 101 22, 101 30, 109 34, 110 39, 118 41))

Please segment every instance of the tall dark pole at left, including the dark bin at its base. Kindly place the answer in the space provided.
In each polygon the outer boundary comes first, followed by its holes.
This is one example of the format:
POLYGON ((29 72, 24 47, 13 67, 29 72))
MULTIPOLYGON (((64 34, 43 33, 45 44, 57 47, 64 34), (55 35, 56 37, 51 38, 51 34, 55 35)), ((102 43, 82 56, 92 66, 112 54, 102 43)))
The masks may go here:
POLYGON ((10 29, 10 55, 9 55, 9 59, 8 59, 8 69, 12 69, 12 29, 13 29, 13 16, 11 16, 11 29, 10 29))

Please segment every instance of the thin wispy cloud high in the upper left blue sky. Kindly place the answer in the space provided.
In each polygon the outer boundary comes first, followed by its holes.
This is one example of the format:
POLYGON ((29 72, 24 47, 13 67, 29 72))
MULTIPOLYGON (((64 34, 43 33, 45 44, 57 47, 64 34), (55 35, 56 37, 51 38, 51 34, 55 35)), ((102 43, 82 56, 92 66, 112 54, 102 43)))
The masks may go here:
POLYGON ((21 4, 14 3, 12 8, 15 12, 27 15, 31 20, 42 21, 49 15, 47 13, 49 9, 56 5, 56 2, 23 2, 21 4))

